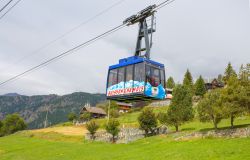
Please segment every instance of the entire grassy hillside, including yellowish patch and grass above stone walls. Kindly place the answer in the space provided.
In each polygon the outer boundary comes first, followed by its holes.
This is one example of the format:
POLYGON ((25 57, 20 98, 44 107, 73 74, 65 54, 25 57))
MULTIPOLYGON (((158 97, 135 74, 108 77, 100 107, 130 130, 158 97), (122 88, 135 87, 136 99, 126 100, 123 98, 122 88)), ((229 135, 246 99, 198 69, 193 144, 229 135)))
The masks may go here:
MULTIPOLYGON (((166 108, 156 108, 159 112, 166 108)), ((125 114, 119 121, 125 125, 138 125, 139 112, 125 114)), ((98 120, 105 124, 106 119, 98 120)), ((250 117, 240 117, 235 124, 247 126, 250 117)), ((219 127, 230 126, 228 119, 219 127)), ((189 159, 250 159, 249 138, 207 138, 176 141, 185 133, 210 130, 211 123, 198 120, 186 123, 180 133, 171 133, 138 140, 129 144, 108 144, 84 140, 83 127, 58 125, 42 130, 23 131, 0 138, 0 160, 189 160, 189 159)))

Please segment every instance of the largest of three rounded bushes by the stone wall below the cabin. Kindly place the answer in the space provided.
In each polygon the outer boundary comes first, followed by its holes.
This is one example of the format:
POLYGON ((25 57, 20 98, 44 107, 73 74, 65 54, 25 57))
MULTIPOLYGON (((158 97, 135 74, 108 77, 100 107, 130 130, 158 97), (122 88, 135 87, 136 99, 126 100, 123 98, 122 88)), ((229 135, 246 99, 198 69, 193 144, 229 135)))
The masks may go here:
POLYGON ((145 131, 145 136, 155 134, 157 127, 157 118, 155 113, 150 108, 145 108, 138 117, 140 129, 145 131))

